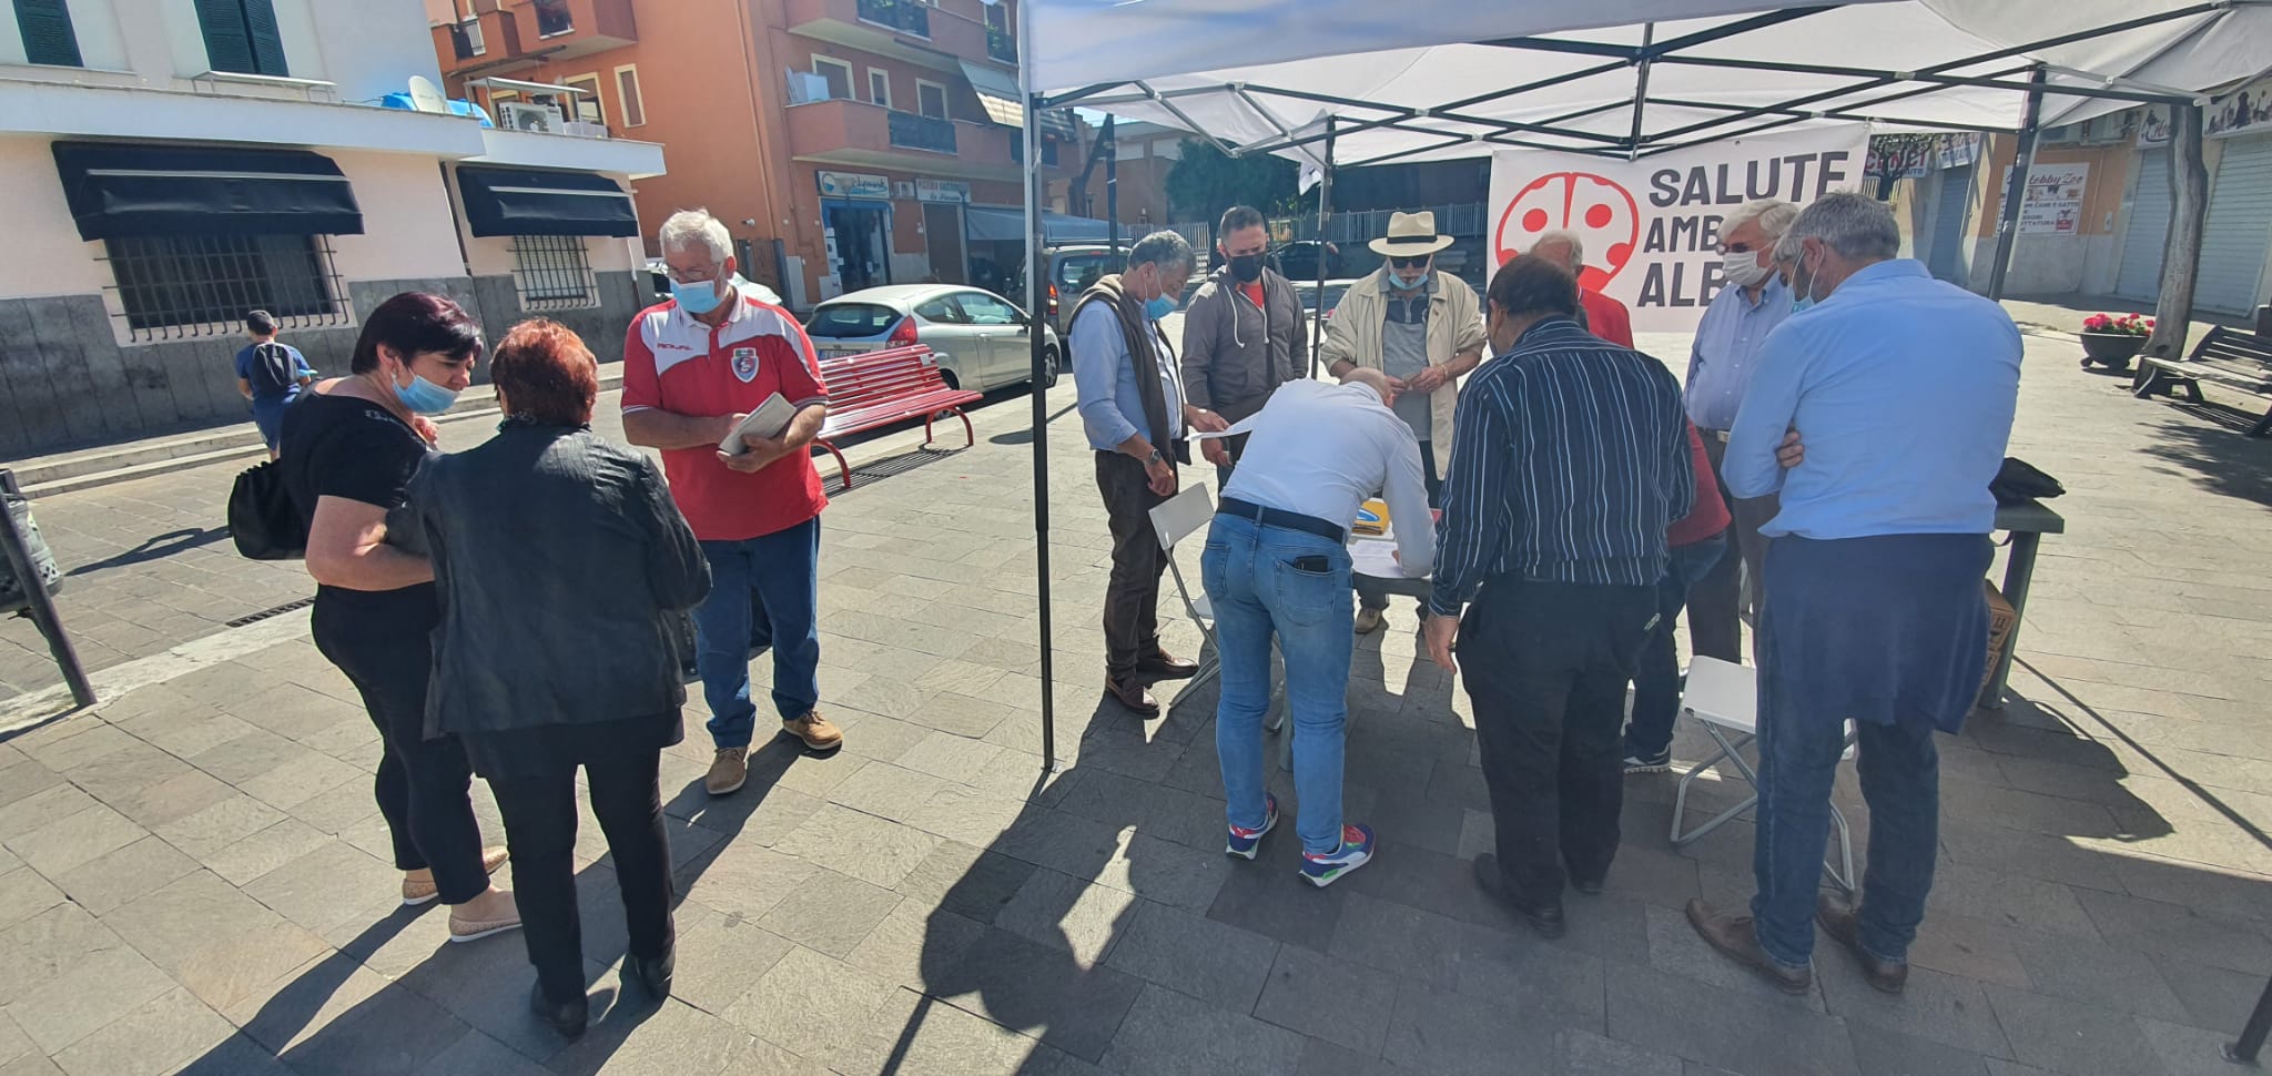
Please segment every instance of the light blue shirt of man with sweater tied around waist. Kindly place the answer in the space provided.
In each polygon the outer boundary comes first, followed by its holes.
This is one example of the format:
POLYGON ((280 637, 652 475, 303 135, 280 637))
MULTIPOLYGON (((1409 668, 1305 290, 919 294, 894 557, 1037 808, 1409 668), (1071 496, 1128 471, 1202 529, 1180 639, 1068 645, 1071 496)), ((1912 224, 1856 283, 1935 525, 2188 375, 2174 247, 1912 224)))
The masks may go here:
POLYGON ((1720 472, 1738 497, 1781 490, 1768 536, 1988 533, 2018 402, 2011 316, 1879 261, 1768 334, 1720 472), (1786 472, 1788 429, 1806 461, 1786 472))

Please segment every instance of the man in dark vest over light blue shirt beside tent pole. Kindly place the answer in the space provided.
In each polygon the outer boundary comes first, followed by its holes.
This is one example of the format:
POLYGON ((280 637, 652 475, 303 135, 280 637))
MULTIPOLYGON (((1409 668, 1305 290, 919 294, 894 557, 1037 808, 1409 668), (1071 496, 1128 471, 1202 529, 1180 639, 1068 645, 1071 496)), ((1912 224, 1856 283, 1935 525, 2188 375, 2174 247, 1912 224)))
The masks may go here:
MULTIPOLYGON (((1191 277, 1191 243, 1152 232, 1129 247, 1129 268, 1100 279, 1072 306, 1066 345, 1079 390, 1081 429, 1097 449, 1097 493, 1113 531, 1113 574, 1104 586, 1104 690, 1156 717, 1145 679, 1186 679, 1200 665, 1159 645, 1159 577, 1168 554, 1152 531, 1152 508, 1175 495, 1184 438, 1184 388, 1159 320, 1175 311, 1191 277)), ((1222 429, 1213 415, 1193 415, 1222 429)))

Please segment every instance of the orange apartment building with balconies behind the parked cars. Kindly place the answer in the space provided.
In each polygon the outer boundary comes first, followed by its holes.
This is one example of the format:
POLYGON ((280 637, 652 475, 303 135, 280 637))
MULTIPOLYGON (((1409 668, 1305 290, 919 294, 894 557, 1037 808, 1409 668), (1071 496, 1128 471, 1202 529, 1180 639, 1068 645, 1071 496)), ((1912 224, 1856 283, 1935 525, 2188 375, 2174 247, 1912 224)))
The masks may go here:
MULTIPOLYGON (((452 95, 668 148, 670 175, 636 184, 648 254, 666 216, 707 207, 743 272, 807 309, 875 284, 1000 286, 1022 252, 1011 0, 427 0, 427 16, 452 95)), ((1059 200, 1081 150, 1079 120, 1045 116, 1059 200)))

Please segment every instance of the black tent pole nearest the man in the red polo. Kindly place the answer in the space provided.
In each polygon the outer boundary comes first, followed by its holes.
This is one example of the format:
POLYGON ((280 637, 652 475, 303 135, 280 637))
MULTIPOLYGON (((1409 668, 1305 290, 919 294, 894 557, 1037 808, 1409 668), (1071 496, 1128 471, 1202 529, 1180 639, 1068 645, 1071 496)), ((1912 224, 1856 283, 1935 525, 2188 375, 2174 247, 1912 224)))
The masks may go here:
POLYGON ((1041 93, 1034 93, 1034 5, 1018 5, 1018 79, 1025 91, 1025 334, 1027 363, 1034 377, 1027 393, 1034 402, 1034 581, 1036 622, 1041 645, 1041 774, 1047 779, 1056 765, 1056 676, 1050 645, 1050 395, 1041 388, 1050 381, 1043 336, 1047 334, 1047 281, 1041 263, 1041 93))

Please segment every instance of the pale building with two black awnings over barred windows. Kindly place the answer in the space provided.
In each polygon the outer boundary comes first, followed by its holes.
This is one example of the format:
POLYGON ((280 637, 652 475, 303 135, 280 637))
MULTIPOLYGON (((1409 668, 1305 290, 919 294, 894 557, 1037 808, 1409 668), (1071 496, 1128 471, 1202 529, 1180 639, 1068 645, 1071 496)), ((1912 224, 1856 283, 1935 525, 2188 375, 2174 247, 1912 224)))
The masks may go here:
MULTIPOLYGON (((407 288, 491 336, 641 304, 625 182, 661 148, 418 111, 416 5, 16 0, 0 11, 0 459, 241 420, 243 313, 325 372, 407 288)), ((609 345, 613 341, 613 345, 609 345)))

